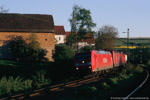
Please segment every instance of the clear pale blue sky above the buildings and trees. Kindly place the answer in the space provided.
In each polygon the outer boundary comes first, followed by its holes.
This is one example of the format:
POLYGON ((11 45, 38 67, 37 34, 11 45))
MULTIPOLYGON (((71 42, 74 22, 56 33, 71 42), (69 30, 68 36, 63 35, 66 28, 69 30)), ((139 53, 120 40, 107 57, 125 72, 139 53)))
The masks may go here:
POLYGON ((0 0, 0 6, 8 13, 49 14, 55 25, 63 25, 70 31, 74 5, 90 10, 97 31, 104 25, 118 29, 119 37, 150 37, 150 0, 0 0))

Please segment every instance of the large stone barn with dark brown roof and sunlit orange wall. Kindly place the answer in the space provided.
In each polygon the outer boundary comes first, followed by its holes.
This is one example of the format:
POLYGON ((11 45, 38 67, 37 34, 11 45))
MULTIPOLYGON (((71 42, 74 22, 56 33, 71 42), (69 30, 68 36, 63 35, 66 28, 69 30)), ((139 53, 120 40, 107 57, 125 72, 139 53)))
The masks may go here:
POLYGON ((30 34, 36 34, 41 48, 47 50, 45 56, 53 61, 55 52, 55 29, 52 15, 40 14, 0 14, 0 59, 11 59, 6 41, 11 37, 22 36, 27 41, 30 34))

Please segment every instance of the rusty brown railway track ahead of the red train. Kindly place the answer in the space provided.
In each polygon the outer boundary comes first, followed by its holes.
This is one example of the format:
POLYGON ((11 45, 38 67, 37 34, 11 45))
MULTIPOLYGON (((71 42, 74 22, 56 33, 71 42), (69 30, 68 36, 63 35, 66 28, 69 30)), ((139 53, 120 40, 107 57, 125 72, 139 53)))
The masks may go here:
POLYGON ((78 87, 84 84, 88 84, 88 83, 92 83, 92 82, 96 82, 99 81, 100 79, 103 79, 104 77, 88 77, 88 78, 82 78, 82 79, 77 79, 74 81, 69 81, 69 82, 65 82, 62 84, 58 84, 58 85, 54 85, 54 86, 49 86, 46 88, 40 88, 38 90, 33 90, 33 91, 28 91, 26 93, 21 93, 21 94, 17 94, 17 95, 11 95, 8 97, 3 97, 0 98, 0 100, 15 100, 15 99, 26 99, 26 98, 32 98, 35 96, 42 96, 45 95, 47 93, 51 93, 51 92, 57 92, 57 91, 63 91, 67 88, 74 88, 74 87, 78 87))

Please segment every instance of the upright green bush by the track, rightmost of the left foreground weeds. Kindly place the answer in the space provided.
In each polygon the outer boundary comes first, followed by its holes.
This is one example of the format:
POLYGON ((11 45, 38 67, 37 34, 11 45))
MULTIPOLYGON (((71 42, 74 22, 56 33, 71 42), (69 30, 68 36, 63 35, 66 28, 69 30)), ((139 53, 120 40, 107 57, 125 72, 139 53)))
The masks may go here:
POLYGON ((44 85, 48 85, 51 83, 51 80, 45 77, 46 71, 45 70, 40 70, 36 71, 35 75, 32 76, 33 78, 33 85, 36 88, 40 88, 44 85))

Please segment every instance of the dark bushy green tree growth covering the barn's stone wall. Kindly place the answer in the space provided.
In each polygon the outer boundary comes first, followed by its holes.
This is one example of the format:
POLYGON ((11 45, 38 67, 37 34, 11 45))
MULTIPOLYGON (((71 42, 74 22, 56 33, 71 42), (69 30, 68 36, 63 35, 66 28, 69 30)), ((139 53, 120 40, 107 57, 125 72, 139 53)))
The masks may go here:
POLYGON ((45 61, 47 51, 40 47, 36 34, 30 34, 28 41, 25 41, 22 36, 12 36, 5 43, 9 46, 12 57, 18 61, 45 61))

